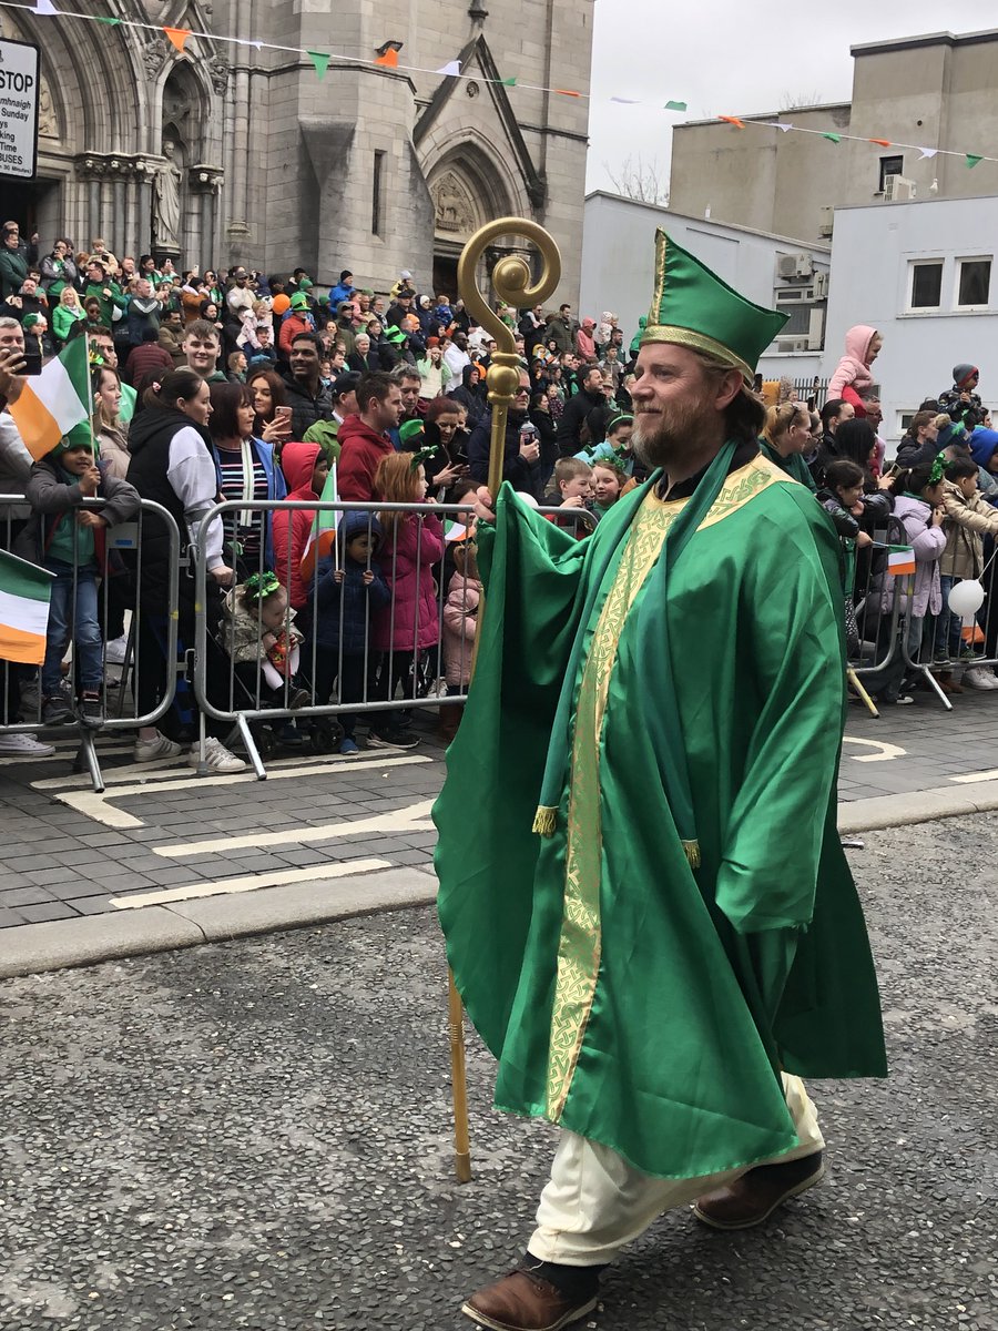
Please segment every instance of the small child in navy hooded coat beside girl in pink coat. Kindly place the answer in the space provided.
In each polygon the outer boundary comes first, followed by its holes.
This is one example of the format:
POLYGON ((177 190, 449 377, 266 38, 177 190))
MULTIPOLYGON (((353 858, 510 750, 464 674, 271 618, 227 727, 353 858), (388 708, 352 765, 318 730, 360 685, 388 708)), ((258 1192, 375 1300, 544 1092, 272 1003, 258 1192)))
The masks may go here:
MULTIPOLYGON (((367 632, 375 611, 391 592, 377 562, 383 534, 374 514, 345 512, 337 531, 335 554, 325 555, 309 588, 315 603, 315 701, 327 703, 338 683, 341 705, 362 703, 370 652, 367 632)), ((339 752, 358 752, 357 716, 342 712, 339 752)))

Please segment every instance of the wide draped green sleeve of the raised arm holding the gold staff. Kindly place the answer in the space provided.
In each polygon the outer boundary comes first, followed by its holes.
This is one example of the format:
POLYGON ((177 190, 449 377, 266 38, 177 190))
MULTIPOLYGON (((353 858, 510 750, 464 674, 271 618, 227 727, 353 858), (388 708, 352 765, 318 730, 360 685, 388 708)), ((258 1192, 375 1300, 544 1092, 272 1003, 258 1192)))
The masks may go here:
POLYGON ((588 544, 528 508, 508 484, 495 526, 478 534, 484 615, 434 808, 435 862, 448 961, 496 1057, 526 952, 540 851, 531 829, 588 544))

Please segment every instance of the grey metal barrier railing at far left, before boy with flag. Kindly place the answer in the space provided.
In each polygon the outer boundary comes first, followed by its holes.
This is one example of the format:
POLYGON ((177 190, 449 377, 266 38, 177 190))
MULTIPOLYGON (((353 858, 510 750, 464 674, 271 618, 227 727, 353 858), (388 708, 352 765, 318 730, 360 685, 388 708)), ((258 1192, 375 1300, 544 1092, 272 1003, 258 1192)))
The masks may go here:
MULTIPOLYGON (((105 502, 94 498, 86 500, 84 507, 100 512, 105 502)), ((72 520, 75 512, 71 511, 67 516, 72 520)), ((23 495, 0 495, 0 539, 7 551, 27 554, 29 546, 35 547, 35 552, 44 551, 47 522, 47 518, 32 515, 23 495), (32 540, 31 528, 35 523, 39 524, 37 539, 32 540), (27 546, 23 544, 25 540, 27 546)), ((47 737, 57 733, 75 735, 80 741, 75 769, 86 771, 94 791, 100 792, 104 789, 104 777, 94 745, 96 737, 156 725, 174 703, 178 677, 184 671, 184 663, 177 663, 180 579, 193 576, 193 568, 181 562, 180 531, 172 514, 148 499, 140 502, 134 519, 102 530, 101 539, 106 558, 104 567, 97 568, 94 576, 88 572, 86 562, 80 559, 81 528, 75 520, 72 520, 72 567, 67 560, 68 590, 64 595, 67 634, 63 644, 59 699, 56 699, 61 700, 68 715, 59 724, 47 721, 41 668, 0 660, 3 685, 0 735, 28 735, 37 731, 45 731, 47 737), (157 560, 154 575, 160 587, 156 608, 148 595, 145 606, 142 604, 144 587, 150 582, 142 558, 142 530, 149 522, 161 523, 166 534, 165 570, 158 567, 157 560), (96 604, 100 623, 104 716, 98 725, 84 724, 72 709, 72 699, 80 681, 83 652, 97 650, 96 643, 77 642, 76 607, 81 588, 84 595, 90 598, 90 607, 96 604), (110 654, 109 646, 113 646, 110 654), (156 654, 157 666, 161 662, 162 669, 156 671, 160 683, 154 689, 154 703, 142 711, 137 680, 140 675, 146 680, 150 679, 149 662, 144 659, 148 652, 156 654)), ((49 610, 49 627, 51 616, 52 610, 49 610)), ((152 696, 152 691, 144 689, 142 696, 146 693, 152 696)))

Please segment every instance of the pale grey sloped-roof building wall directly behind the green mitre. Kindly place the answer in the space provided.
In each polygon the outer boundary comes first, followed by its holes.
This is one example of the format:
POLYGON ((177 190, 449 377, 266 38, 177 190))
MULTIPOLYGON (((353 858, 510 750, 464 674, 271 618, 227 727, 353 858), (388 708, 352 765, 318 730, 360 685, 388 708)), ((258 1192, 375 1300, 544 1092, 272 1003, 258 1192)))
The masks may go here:
MULTIPOLYGON (((637 204, 616 194, 589 194, 579 315, 591 314, 599 319, 603 310, 611 310, 620 317, 627 343, 637 329, 639 317, 648 314, 651 305, 657 228, 667 230, 736 291, 770 309, 778 285, 777 258, 801 250, 798 241, 780 236, 684 217, 672 209, 637 204)), ((826 246, 804 249, 812 254, 817 272, 828 272, 830 253, 826 246)), ((764 359, 760 369, 768 378, 781 374, 794 379, 813 378, 820 354, 772 353, 764 359)))

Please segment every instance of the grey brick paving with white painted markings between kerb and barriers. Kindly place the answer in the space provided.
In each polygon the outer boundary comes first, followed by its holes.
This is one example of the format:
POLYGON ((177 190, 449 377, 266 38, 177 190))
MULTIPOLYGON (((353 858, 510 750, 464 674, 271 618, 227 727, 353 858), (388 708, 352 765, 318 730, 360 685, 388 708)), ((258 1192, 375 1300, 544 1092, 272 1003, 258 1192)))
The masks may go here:
MULTIPOLYGON (((0 930, 142 905, 281 886, 335 872, 428 869, 430 803, 443 780, 432 716, 423 743, 358 759, 301 755, 253 773, 198 777, 180 759, 137 768, 121 736, 98 741, 106 777, 94 795, 71 772, 75 741, 24 764, 0 757, 0 930)), ((994 780, 998 699, 967 693, 946 712, 927 693, 873 720, 850 707, 840 797, 856 801, 994 780)))

